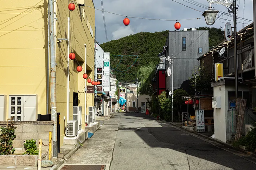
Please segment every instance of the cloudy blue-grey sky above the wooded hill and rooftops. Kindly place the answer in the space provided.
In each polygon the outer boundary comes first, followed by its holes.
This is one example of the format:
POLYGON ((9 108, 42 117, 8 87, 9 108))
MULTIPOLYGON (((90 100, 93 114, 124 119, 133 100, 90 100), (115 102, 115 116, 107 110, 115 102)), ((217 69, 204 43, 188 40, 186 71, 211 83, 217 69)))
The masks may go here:
MULTIPOLYGON (((193 19, 201 18, 199 20, 185 20, 179 21, 181 24, 180 30, 184 28, 192 27, 209 27, 206 25, 204 16, 201 12, 205 11, 205 8, 192 5, 189 2, 196 2, 203 4, 208 7, 209 3, 207 0, 102 0, 104 11, 109 11, 116 14, 135 16, 141 18, 152 18, 152 19, 169 19, 169 20, 178 20, 178 19, 193 19), (186 5, 183 6, 177 2, 186 5), (196 11, 196 10, 198 11, 196 11)), ((101 0, 94 0, 95 8, 102 9, 101 0)), ((253 9, 252 9, 252 0, 237 0, 238 12, 237 16, 253 20, 253 9), (245 5, 244 5, 245 4, 245 5)), ((225 11, 228 13, 228 10, 223 5, 213 4, 216 10, 219 10, 219 17, 223 19, 216 19, 216 22, 211 27, 220 28, 224 30, 225 23, 230 22, 233 25, 233 14, 230 16, 222 15, 222 12, 225 11), (230 21, 228 21, 228 20, 230 21), (223 23, 224 22, 224 23, 223 23)), ((159 32, 162 30, 174 30, 174 24, 176 21, 160 21, 160 20, 145 20, 145 19, 130 19, 130 24, 125 26, 123 24, 124 16, 114 15, 105 12, 105 22, 107 27, 107 37, 108 41, 116 40, 130 34, 135 34, 139 32, 159 32)), ((252 21, 243 21, 242 19, 237 20, 237 31, 243 28, 243 22, 245 23, 244 27, 250 24, 252 21), (239 23, 241 22, 241 23, 239 23)), ((106 42, 106 35, 104 29, 103 15, 102 11, 95 10, 95 25, 96 25, 96 41, 98 43, 106 42)))

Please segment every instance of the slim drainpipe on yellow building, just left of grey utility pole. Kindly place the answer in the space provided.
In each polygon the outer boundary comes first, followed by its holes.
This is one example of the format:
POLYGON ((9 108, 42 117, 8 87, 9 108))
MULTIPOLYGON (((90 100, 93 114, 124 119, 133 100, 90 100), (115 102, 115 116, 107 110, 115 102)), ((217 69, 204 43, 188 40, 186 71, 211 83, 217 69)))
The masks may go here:
POLYGON ((47 55, 47 104, 46 104, 46 114, 49 114, 49 74, 50 74, 50 4, 48 2, 48 55, 47 55))

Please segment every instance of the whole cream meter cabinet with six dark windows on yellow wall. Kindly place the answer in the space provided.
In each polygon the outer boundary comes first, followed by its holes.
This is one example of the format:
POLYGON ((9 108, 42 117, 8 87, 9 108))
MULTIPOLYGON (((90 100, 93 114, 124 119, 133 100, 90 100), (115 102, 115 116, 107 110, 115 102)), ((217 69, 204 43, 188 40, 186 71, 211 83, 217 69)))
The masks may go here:
POLYGON ((8 117, 13 121, 36 121, 38 95, 9 95, 8 117))

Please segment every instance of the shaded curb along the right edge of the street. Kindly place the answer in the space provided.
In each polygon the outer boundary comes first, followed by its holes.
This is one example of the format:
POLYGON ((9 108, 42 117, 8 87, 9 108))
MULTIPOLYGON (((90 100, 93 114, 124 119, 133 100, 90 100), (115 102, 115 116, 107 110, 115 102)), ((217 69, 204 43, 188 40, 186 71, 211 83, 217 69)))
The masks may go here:
POLYGON ((209 136, 206 136, 206 135, 203 135, 203 134, 200 134, 200 133, 197 133, 197 132, 188 130, 188 129, 186 129, 186 128, 184 128, 184 127, 181 127, 181 126, 179 126, 179 125, 176 125, 176 124, 173 124, 173 123, 169 123, 169 124, 171 124, 171 125, 173 125, 173 126, 175 126, 175 127, 184 129, 184 130, 186 130, 187 132, 190 132, 190 133, 193 133, 193 134, 195 134, 195 135, 198 135, 198 136, 201 136, 201 137, 203 137, 203 138, 206 138, 206 139, 208 139, 208 140, 211 140, 211 141, 213 141, 213 142, 217 142, 217 143, 219 143, 219 144, 222 144, 222 145, 224 145, 224 146, 227 147, 227 148, 235 149, 236 151, 242 152, 242 153, 244 153, 244 154, 247 154, 247 155, 250 155, 250 156, 256 158, 256 154, 254 154, 254 153, 252 153, 252 152, 248 152, 248 151, 245 151, 245 150, 243 150, 243 149, 233 147, 232 145, 230 145, 230 144, 228 144, 228 143, 225 143, 225 142, 222 142, 222 141, 217 140, 217 139, 215 139, 215 138, 211 138, 211 137, 209 137, 209 136))

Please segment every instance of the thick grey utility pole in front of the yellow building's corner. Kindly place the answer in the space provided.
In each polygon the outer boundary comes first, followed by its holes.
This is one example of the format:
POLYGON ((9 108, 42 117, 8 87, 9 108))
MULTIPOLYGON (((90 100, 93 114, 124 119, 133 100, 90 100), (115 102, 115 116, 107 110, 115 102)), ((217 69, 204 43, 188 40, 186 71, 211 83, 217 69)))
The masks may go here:
POLYGON ((55 57, 55 27, 54 27, 54 12, 53 1, 49 1, 50 12, 50 54, 51 54, 51 120, 53 125, 53 156, 58 157, 57 147, 57 108, 56 108, 56 57, 55 57))

